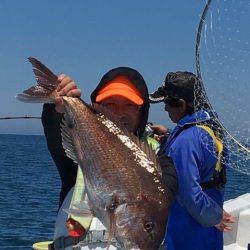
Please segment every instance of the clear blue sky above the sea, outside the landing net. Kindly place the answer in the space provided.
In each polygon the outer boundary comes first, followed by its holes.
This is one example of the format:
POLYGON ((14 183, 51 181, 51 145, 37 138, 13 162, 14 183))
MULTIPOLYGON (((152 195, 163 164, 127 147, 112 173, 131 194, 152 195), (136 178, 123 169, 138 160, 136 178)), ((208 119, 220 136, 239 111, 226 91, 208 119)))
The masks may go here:
MULTIPOLYGON (((205 1, 18 1, 0 4, 0 116, 40 115, 14 96, 35 82, 27 57, 70 75, 89 102, 113 67, 137 69, 152 91, 168 71, 195 71, 195 37, 205 1)), ((150 120, 171 126, 162 105, 150 120)), ((0 121, 0 133, 42 134, 39 121, 0 121)))

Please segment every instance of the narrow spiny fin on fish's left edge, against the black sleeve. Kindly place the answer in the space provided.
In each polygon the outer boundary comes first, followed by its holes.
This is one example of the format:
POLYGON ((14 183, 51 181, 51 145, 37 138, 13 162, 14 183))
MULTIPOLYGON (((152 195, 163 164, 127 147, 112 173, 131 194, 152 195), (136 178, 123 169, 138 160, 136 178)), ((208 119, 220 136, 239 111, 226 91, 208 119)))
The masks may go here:
POLYGON ((67 126, 67 121, 65 117, 63 117, 61 122, 61 135, 62 135, 62 146, 66 155, 72 159, 75 163, 77 162, 76 150, 74 143, 72 141, 71 129, 67 126))

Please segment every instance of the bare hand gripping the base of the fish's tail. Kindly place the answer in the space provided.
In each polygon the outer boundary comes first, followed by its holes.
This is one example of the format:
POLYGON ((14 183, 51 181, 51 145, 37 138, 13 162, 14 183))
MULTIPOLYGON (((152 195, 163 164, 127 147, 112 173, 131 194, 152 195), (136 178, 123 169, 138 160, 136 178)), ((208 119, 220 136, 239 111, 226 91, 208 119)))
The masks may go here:
POLYGON ((56 111, 59 113, 64 112, 64 105, 62 96, 69 97, 81 97, 81 90, 77 88, 75 82, 65 74, 61 74, 58 77, 58 81, 60 82, 57 86, 58 97, 55 98, 56 111))

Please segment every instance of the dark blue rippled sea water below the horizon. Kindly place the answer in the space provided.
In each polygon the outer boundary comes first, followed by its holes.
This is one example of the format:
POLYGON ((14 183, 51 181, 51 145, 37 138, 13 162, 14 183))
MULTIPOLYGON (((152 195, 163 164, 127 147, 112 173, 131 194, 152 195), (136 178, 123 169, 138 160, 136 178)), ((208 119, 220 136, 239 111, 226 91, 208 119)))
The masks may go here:
MULTIPOLYGON (((44 136, 0 135, 0 249, 53 238, 60 179, 44 136)), ((228 171, 226 200, 250 192, 250 176, 228 171)))

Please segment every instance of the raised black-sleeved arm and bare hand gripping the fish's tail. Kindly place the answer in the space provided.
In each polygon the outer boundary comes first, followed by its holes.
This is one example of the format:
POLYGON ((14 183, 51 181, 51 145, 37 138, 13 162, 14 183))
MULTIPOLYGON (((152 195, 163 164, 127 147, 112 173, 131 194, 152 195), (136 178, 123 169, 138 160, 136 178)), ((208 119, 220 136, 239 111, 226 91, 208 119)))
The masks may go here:
POLYGON ((47 140, 48 149, 59 172, 62 188, 60 193, 59 207, 70 189, 75 185, 77 175, 77 164, 68 158, 62 146, 60 123, 63 117, 64 106, 62 96, 78 97, 81 90, 68 76, 61 74, 58 77, 59 85, 55 104, 44 104, 42 112, 42 124, 47 140))

